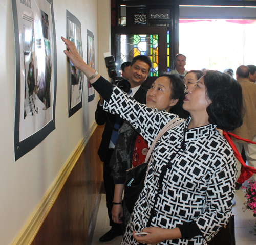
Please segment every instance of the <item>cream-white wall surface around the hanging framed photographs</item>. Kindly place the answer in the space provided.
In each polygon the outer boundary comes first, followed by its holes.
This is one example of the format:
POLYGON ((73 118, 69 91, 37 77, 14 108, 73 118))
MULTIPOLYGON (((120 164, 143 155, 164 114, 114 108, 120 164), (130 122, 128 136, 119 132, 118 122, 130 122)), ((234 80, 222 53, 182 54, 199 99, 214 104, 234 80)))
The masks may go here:
MULTIPOLYGON (((94 112, 98 101, 87 103, 87 80, 84 80, 83 105, 77 113, 68 118, 67 60, 66 48, 60 37, 66 37, 66 10, 81 22, 83 56, 87 57, 87 33, 95 37, 96 69, 98 45, 100 52, 109 52, 109 34, 98 31, 110 30, 110 0, 53 0, 56 43, 57 43, 57 97, 56 129, 36 148, 14 161, 14 114, 15 114, 15 45, 12 6, 10 0, 0 0, 0 244, 12 244, 28 217, 35 210, 61 168, 72 152, 94 124, 94 112), (98 29, 98 11, 104 10, 104 20, 98 29)), ((103 12, 102 12, 103 13, 103 12)), ((99 19, 101 19, 99 15, 99 19)), ((99 56, 101 57, 101 56, 99 56)), ((104 62, 104 61, 103 61, 104 62)), ((100 61, 103 73, 105 69, 100 61)), ((97 149, 95 149, 97 151, 97 149)))

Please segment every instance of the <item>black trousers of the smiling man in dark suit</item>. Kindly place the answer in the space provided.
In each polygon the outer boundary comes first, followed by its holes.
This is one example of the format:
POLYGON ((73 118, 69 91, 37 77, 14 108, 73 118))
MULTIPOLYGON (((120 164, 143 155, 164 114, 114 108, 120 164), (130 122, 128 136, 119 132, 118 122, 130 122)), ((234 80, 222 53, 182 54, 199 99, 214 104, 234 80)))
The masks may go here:
POLYGON ((108 208, 108 215, 110 219, 110 226, 120 228, 120 224, 116 224, 112 220, 112 207, 113 207, 113 199, 115 192, 115 184, 113 178, 110 176, 112 169, 110 168, 110 159, 113 154, 114 149, 109 148, 108 153, 106 154, 104 164, 103 164, 103 179, 104 186, 106 191, 106 208, 108 208))

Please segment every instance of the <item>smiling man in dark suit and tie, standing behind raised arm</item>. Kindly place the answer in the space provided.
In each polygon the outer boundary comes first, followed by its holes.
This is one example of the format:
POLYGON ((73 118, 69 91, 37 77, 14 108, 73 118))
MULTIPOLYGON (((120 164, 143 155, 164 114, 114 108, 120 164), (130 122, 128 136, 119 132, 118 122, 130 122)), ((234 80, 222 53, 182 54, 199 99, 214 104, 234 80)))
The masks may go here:
MULTIPOLYGON (((131 84, 130 96, 141 104, 146 103, 146 90, 140 85, 146 80, 148 73, 152 67, 150 58, 144 55, 138 55, 133 58, 131 68, 129 70, 129 82, 131 84)), ((103 179, 106 191, 106 206, 108 208, 108 215, 110 218, 110 231, 105 233, 99 238, 101 242, 106 242, 114 239, 116 236, 122 235, 122 228, 120 224, 116 224, 112 220, 112 207, 115 184, 111 178, 111 168, 109 167, 110 159, 115 148, 115 142, 118 137, 118 129, 122 125, 122 119, 120 117, 103 111, 103 98, 101 97, 97 110, 95 112, 95 120, 98 125, 105 124, 105 128, 102 134, 102 140, 99 146, 98 155, 100 160, 104 162, 103 165, 103 179)))

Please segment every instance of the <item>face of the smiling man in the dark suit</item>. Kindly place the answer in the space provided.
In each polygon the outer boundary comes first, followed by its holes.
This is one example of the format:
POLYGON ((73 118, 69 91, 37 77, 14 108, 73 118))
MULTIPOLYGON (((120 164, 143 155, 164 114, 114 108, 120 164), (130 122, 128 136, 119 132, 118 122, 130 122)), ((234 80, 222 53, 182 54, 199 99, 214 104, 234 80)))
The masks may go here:
POLYGON ((141 85, 147 78, 150 66, 140 60, 137 60, 129 70, 129 82, 131 87, 136 87, 141 85))

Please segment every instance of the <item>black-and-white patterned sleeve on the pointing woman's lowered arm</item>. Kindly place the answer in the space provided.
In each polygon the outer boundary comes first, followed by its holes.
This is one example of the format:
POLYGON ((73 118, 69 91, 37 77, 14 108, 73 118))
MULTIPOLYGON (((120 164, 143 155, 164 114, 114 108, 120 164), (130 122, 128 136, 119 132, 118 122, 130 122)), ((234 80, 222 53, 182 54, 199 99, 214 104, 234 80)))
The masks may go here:
POLYGON ((195 219, 203 237, 210 240, 220 228, 225 226, 232 215, 232 199, 234 197, 234 182, 237 175, 237 164, 233 151, 223 145, 222 155, 212 164, 215 169, 208 180, 206 190, 205 212, 195 219))

